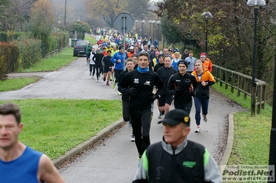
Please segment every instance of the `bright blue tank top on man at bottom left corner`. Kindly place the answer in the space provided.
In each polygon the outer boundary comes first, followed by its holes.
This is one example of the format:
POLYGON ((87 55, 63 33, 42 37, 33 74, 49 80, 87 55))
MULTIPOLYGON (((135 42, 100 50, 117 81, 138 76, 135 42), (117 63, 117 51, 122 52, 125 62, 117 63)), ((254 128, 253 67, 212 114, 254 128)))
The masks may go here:
POLYGON ((0 160, 1 183, 38 183, 37 171, 42 153, 26 147, 23 154, 10 162, 0 160))

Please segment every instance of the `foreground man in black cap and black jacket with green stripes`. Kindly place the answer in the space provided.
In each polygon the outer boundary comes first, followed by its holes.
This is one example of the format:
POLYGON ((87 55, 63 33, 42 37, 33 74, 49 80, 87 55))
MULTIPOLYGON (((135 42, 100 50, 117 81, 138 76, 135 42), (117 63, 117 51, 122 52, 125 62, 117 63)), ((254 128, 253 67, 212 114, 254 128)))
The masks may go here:
POLYGON ((190 116, 186 111, 169 111, 158 123, 163 139, 146 149, 133 183, 137 182, 221 182, 217 163, 208 150, 187 140, 190 116))

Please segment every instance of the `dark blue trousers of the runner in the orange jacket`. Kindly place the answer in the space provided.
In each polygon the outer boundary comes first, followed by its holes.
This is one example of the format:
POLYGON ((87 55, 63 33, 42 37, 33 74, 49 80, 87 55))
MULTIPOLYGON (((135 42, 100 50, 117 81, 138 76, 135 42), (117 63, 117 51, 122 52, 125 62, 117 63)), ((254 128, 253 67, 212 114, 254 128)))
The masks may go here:
POLYGON ((209 98, 197 98, 194 96, 195 101, 195 122, 197 125, 200 125, 200 111, 202 107, 202 114, 206 116, 208 114, 208 105, 209 105, 209 98))

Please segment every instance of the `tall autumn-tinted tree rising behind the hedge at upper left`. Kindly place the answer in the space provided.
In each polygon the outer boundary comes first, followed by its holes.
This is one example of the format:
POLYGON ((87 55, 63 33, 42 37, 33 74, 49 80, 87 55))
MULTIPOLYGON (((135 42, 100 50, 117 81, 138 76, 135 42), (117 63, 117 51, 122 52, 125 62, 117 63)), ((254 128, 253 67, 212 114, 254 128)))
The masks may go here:
POLYGON ((48 36, 53 30, 55 16, 52 12, 50 0, 39 0, 34 3, 30 13, 30 30, 34 38, 41 39, 43 43, 48 43, 48 36))

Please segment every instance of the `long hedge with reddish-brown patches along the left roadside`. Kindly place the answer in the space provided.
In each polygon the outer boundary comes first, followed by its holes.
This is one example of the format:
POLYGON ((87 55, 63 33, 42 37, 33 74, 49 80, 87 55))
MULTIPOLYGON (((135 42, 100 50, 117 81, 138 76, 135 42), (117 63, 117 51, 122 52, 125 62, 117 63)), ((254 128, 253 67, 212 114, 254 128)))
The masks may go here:
POLYGON ((52 32, 48 37, 46 50, 43 50, 43 44, 39 39, 31 38, 30 32, 17 32, 14 34, 15 37, 17 40, 11 44, 0 42, 0 79, 6 78, 9 72, 17 72, 19 67, 23 69, 32 67, 34 63, 41 61, 42 54, 45 54, 42 51, 46 51, 47 54, 61 47, 67 47, 70 36, 68 32, 52 32))

